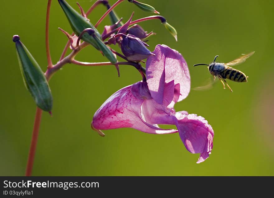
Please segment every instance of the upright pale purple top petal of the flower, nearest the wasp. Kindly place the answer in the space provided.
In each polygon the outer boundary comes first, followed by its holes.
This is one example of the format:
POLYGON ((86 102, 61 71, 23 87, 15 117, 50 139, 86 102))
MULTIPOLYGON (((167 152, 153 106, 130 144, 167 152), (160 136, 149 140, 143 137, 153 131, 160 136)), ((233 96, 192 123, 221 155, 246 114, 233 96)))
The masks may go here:
POLYGON ((164 85, 174 80, 175 85, 180 84, 178 102, 185 99, 190 91, 190 75, 182 55, 166 45, 157 45, 153 53, 156 56, 149 56, 146 62, 147 82, 152 98, 163 104, 164 85))

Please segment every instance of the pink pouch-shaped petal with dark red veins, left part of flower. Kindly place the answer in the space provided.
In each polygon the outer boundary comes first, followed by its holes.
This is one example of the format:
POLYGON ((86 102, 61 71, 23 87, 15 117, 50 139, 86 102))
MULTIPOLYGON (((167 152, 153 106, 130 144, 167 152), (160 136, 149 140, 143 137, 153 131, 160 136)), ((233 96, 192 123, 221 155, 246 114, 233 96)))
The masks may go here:
POLYGON ((98 130, 130 127, 145 133, 176 133, 175 129, 161 129, 142 119, 144 100, 135 98, 131 87, 124 87, 108 98, 94 114, 92 126, 98 130))

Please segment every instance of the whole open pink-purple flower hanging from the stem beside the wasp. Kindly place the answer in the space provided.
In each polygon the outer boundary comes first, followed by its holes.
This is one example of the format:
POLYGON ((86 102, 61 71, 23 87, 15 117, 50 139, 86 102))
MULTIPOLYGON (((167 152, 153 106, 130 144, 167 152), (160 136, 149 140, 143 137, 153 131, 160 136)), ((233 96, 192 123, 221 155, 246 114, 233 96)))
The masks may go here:
POLYGON ((147 81, 124 87, 108 98, 94 114, 92 128, 99 132, 124 127, 153 134, 178 132, 189 152, 201 153, 197 163, 203 162, 213 147, 213 129, 203 117, 173 108, 190 91, 187 63, 165 45, 157 45, 153 53, 146 62, 147 81), (158 124, 176 125, 177 130, 158 124))

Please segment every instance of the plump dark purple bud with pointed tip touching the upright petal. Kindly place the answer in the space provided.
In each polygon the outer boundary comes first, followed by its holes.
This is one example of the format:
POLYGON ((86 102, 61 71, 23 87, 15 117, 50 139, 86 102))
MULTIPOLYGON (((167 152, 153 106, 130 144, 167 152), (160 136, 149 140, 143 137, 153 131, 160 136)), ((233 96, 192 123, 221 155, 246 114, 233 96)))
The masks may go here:
POLYGON ((119 34, 118 36, 122 36, 123 38, 121 41, 121 50, 128 60, 138 62, 153 54, 146 48, 144 42, 136 36, 130 34, 119 34))

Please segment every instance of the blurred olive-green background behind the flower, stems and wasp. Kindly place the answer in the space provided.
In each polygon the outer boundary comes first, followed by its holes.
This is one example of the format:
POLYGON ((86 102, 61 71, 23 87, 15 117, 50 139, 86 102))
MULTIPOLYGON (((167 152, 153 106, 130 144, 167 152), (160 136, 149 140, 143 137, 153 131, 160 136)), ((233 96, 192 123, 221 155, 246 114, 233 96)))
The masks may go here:
MULTIPOLYGON (((141 1, 141 0, 140 0, 141 1)), ((76 1, 67 0, 78 10, 76 1)), ((78 1, 84 10, 93 2, 78 1)), ((115 1, 110 0, 113 4, 115 1)), ((268 176, 274 175, 274 94, 273 94, 273 5, 267 0, 158 1, 142 0, 176 28, 178 42, 158 20, 142 22, 154 31, 148 44, 166 44, 186 59, 191 87, 210 78, 206 67, 196 63, 229 62, 242 53, 256 51, 236 69, 249 76, 247 83, 229 81, 233 93, 220 82, 205 91, 191 90, 175 105, 205 117, 214 129, 210 157, 196 164, 199 154, 191 154, 179 135, 153 135, 123 128, 104 131, 100 137, 90 123, 95 111, 116 90, 140 79, 135 68, 120 65, 120 78, 114 66, 84 67, 65 65, 50 80, 54 97, 53 117, 43 113, 37 144, 34 176, 268 176)), ((46 70, 46 0, 3 1, 1 20, 0 175, 25 174, 35 116, 35 104, 23 84, 12 36, 18 34, 42 69, 46 70)), ((125 1, 115 11, 124 22, 150 16, 125 1)), ((98 6, 91 13, 93 24, 105 12, 98 6)), ((106 18, 98 27, 110 23, 106 18)), ((50 53, 59 60, 66 36, 71 32, 57 1, 50 10, 50 53)), ((91 46, 77 60, 107 61, 91 46)), ((166 126, 164 126, 166 127, 166 126)))

